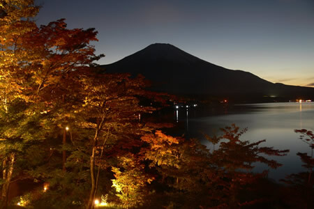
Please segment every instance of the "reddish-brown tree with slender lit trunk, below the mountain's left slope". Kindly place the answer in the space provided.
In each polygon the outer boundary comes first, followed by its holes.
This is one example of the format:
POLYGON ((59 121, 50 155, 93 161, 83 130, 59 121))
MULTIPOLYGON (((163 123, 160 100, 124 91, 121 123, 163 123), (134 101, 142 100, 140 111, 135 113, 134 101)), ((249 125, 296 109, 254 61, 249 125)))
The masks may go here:
POLYGON ((139 97, 147 94, 142 90, 145 86, 142 77, 130 79, 128 75, 104 74, 84 82, 84 103, 77 114, 83 117, 83 128, 94 130, 94 137, 90 139, 91 193, 87 206, 91 208, 101 166, 98 164, 96 174, 96 161, 105 163, 103 154, 110 150, 115 149, 116 156, 123 156, 141 146, 140 136, 151 128, 139 122, 139 114, 149 113, 155 108, 139 103, 139 97))

